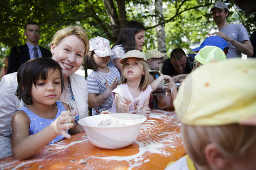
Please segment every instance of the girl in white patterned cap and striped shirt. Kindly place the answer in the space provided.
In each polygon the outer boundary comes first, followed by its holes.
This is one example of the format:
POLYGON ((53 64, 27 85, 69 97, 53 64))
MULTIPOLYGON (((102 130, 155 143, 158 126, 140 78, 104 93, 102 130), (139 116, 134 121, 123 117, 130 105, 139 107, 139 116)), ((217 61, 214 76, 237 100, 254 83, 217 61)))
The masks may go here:
POLYGON ((90 52, 86 56, 85 64, 93 72, 87 77, 88 105, 92 108, 92 115, 111 108, 113 97, 111 91, 116 88, 120 80, 120 72, 113 66, 108 66, 110 55, 109 40, 103 37, 90 39, 90 52))

